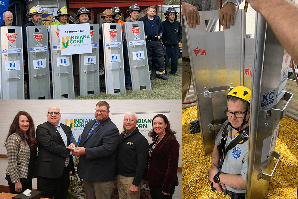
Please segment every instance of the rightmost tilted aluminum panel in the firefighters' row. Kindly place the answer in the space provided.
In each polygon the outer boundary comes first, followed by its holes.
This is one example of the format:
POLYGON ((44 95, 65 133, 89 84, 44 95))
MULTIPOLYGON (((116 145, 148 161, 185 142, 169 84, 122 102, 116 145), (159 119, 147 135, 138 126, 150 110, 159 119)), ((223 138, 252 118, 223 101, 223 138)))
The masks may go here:
POLYGON ((133 91, 151 89, 144 23, 125 22, 123 25, 133 91))

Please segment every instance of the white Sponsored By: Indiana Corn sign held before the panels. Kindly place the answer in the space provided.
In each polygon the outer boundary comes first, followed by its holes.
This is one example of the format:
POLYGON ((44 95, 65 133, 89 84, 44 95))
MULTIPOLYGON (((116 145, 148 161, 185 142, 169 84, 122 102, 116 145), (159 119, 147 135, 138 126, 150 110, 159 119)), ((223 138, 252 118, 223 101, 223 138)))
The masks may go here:
POLYGON ((58 25, 61 55, 92 53, 90 25, 58 25))

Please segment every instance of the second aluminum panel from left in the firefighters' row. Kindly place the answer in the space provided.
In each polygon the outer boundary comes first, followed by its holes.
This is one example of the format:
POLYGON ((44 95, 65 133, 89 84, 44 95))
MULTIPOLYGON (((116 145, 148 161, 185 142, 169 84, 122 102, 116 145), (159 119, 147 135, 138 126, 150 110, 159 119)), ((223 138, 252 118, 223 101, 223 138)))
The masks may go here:
POLYGON ((47 26, 27 26, 30 99, 50 100, 49 46, 47 26))

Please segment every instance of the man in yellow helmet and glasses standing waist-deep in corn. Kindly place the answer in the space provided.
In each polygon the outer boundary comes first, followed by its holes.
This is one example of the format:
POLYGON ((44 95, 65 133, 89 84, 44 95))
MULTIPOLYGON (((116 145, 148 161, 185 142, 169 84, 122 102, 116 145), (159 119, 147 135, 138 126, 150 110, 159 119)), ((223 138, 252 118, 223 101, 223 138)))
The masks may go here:
POLYGON ((250 113, 249 88, 237 86, 227 95, 228 120, 215 139, 209 180, 212 190, 231 198, 245 198, 250 113), (247 141, 247 142, 246 142, 247 141))

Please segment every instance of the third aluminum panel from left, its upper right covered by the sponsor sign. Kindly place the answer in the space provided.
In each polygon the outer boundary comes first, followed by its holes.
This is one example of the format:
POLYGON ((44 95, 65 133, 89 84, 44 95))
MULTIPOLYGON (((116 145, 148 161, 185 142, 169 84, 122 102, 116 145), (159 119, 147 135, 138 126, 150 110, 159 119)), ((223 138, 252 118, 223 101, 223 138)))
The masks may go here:
POLYGON ((49 30, 51 46, 53 99, 73 99, 75 98, 75 91, 73 80, 72 55, 61 55, 58 25, 49 26, 49 30))

